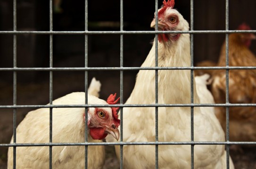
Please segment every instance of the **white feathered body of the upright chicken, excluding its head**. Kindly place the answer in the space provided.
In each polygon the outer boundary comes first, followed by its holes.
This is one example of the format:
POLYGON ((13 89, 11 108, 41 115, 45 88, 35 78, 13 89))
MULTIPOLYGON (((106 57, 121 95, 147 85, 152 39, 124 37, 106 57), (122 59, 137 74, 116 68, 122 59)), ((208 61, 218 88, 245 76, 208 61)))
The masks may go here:
MULTIPOLYGON (((189 39, 189 35, 182 34, 180 38, 182 39, 183 37, 189 39)), ((160 43, 158 45, 162 46, 160 43)), ((151 62, 153 64, 143 64, 142 67, 154 66, 154 51, 153 45, 150 51, 151 54, 149 53, 148 55, 148 58, 152 59, 151 62)), ((164 55, 158 55, 158 57, 161 56, 164 55)), ((186 54, 180 55, 180 57, 186 56, 190 57, 186 54)), ((149 60, 146 60, 144 63, 147 63, 147 61, 149 60)), ((189 66, 189 61, 187 65, 183 65, 184 62, 182 62, 182 65, 181 63, 177 65, 167 63, 162 66, 189 66)), ((199 103, 195 88, 194 97, 195 103, 199 103)), ((159 70, 158 103, 190 104, 189 70, 159 70)), ((139 72, 132 94, 125 104, 155 104, 155 71, 142 70, 139 72)), ((185 107, 158 108, 158 141, 190 141, 190 112, 190 108, 185 107)), ((155 141, 155 108, 124 108, 123 118, 124 141, 155 141)), ((207 108, 194 108, 194 140, 225 140, 223 130, 215 114, 208 112, 207 108)), ((117 150, 118 152, 119 150, 117 150)), ((195 146, 194 155, 195 168, 197 169, 226 168, 226 154, 222 145, 195 146)), ((189 169, 190 146, 158 146, 158 165, 160 169, 169 169, 170 166, 179 169, 189 169)), ((154 166, 155 146, 124 146, 125 169, 151 169, 154 166)))

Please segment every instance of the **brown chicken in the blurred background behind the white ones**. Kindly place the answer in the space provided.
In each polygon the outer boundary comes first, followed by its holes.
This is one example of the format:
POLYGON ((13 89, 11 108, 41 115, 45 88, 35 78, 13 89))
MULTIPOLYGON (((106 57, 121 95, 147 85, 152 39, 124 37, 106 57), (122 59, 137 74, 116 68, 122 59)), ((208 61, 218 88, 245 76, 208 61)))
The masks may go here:
MULTIPOLYGON (((239 30, 251 30, 243 23, 239 30)), ((256 57, 250 51, 251 40, 256 39, 252 33, 231 33, 229 35, 229 66, 256 66, 256 57)), ((225 42, 221 48, 217 66, 225 66, 225 42)), ((212 92, 216 103, 226 102, 226 71, 215 70, 213 75, 212 92)), ((229 70, 229 102, 256 103, 256 70, 229 70)), ((226 109, 216 107, 216 115, 223 129, 226 129, 226 109)), ((255 107, 230 107, 230 140, 256 141, 256 109, 255 107)))

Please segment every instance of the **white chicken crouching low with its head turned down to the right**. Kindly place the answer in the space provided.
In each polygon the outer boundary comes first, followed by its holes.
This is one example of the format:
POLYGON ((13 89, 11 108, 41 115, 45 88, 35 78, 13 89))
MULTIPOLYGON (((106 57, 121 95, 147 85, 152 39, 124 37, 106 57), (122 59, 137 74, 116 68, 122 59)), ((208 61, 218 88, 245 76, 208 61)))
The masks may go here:
MULTIPOLYGON (((96 82, 96 84, 99 82, 96 82)), ((95 83, 94 83, 95 84, 95 83)), ((98 85, 98 84, 97 84, 98 85)), ((96 86, 97 86, 96 85, 96 86)), ((94 87, 91 85, 91 87, 94 87)), ((88 89, 88 91, 90 91, 88 89)), ((88 94, 88 104, 116 104, 115 95, 101 100, 88 94)), ((53 101, 53 105, 84 105, 85 93, 73 92, 53 101)), ((88 108, 88 142, 102 142, 107 134, 119 138, 120 120, 118 108, 88 108)), ((29 112, 17 127, 17 143, 49 142, 49 108, 40 108, 29 112)), ((83 143, 85 141, 85 108, 53 108, 52 110, 52 142, 83 143)), ((13 138, 11 139, 13 143, 13 138)), ((84 169, 84 146, 53 146, 52 168, 84 169)), ((49 147, 28 146, 17 147, 17 169, 49 168, 49 147)), ((101 169, 105 161, 104 146, 88 146, 88 168, 101 169)), ((13 147, 8 149, 8 169, 13 168, 13 147)))

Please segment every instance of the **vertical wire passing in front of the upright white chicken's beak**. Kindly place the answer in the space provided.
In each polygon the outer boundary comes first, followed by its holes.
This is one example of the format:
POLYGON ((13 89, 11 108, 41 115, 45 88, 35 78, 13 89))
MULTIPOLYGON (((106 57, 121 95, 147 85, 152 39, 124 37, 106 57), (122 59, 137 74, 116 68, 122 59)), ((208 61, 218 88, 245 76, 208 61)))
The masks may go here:
MULTIPOLYGON (((158 30, 158 0, 155 0, 155 11, 156 11, 156 30, 158 30)), ((156 55, 155 55, 155 66, 158 67, 158 34, 155 35, 155 44, 156 44, 156 55)), ((155 97, 156 104, 158 104, 158 70, 155 70, 155 97)), ((155 129, 156 129, 156 142, 158 142, 158 107, 156 106, 155 110, 155 129)), ((156 169, 158 169, 158 145, 156 145, 156 169)))

